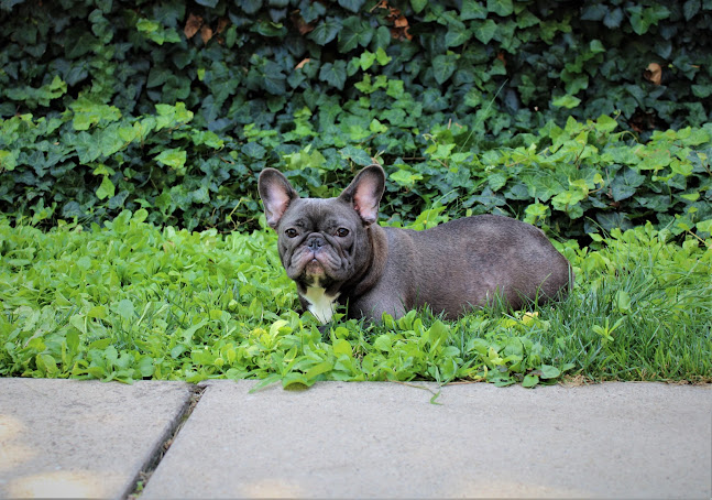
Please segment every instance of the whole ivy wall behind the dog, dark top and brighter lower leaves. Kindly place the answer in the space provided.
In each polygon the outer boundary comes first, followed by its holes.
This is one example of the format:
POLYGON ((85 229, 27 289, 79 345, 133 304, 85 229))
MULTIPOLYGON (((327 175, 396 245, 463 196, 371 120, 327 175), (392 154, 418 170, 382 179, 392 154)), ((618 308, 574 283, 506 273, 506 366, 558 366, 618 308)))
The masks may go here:
POLYGON ((710 0, 1 0, 0 23, 0 208, 35 224, 254 228, 264 166, 327 195, 371 157, 395 222, 712 217, 710 0))

